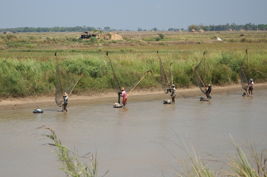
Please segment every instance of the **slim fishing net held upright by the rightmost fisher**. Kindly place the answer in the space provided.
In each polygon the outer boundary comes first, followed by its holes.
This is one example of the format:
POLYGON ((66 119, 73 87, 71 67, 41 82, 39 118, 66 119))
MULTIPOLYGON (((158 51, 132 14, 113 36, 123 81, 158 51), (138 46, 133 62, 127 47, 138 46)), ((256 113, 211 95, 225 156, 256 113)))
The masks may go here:
POLYGON ((246 55, 240 64, 240 81, 241 86, 244 90, 247 89, 249 83, 249 68, 248 68, 248 52, 246 50, 246 55))

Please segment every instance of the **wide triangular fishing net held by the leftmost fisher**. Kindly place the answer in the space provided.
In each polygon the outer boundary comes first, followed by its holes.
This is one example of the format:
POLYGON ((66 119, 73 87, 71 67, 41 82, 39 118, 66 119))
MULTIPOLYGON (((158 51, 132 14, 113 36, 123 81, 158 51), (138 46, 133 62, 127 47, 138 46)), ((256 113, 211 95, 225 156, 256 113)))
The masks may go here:
POLYGON ((56 103, 61 105, 64 102, 63 93, 69 95, 76 83, 79 81, 81 75, 73 75, 66 71, 63 66, 58 63, 56 66, 56 103))

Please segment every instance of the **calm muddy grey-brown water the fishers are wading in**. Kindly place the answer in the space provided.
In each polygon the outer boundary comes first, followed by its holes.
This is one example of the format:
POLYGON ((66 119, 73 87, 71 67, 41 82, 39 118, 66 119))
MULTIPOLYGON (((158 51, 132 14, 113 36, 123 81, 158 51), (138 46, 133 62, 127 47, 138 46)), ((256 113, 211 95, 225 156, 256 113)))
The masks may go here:
MULTIPOLYGON (((242 93, 242 90, 240 90, 242 93)), ((68 112, 44 107, 5 110, 0 114, 0 172, 9 177, 65 177, 58 168, 52 143, 36 129, 50 125, 64 145, 79 156, 97 151, 99 175, 106 177, 175 176, 178 159, 188 159, 177 145, 179 138, 204 159, 206 153, 224 159, 233 153, 233 141, 239 145, 254 143, 259 151, 266 147, 266 91, 254 90, 254 96, 218 94, 209 102, 194 98, 176 98, 175 104, 163 104, 169 95, 129 96, 126 107, 113 108, 117 98, 71 104, 68 112)), ((201 94, 200 94, 201 96, 201 94)), ((55 104, 56 105, 56 104, 55 104)), ((46 132, 49 134, 49 132, 46 132)), ((88 162, 86 159, 82 160, 88 162)))

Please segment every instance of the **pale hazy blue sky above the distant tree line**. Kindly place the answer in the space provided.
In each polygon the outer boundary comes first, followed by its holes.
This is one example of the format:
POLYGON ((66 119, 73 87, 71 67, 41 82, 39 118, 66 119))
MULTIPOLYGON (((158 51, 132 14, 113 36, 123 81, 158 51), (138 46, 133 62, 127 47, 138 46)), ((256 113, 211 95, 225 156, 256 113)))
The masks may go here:
POLYGON ((0 28, 267 24, 267 0, 1 0, 0 28))

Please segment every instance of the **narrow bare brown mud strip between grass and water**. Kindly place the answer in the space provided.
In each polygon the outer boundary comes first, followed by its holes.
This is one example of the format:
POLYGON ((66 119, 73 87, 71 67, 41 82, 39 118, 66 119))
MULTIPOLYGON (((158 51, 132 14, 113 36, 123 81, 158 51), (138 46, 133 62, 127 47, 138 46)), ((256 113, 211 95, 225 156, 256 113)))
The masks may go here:
MULTIPOLYGON (((265 89, 267 88, 267 83, 261 83, 261 84, 255 84, 254 85, 254 94, 256 93, 257 89, 265 89)), ((221 93, 227 93, 227 91, 233 92, 237 91, 240 92, 240 95, 244 92, 240 84, 234 84, 234 85, 228 85, 228 86, 212 86, 212 92, 213 94, 221 94, 221 93)), ((186 96, 199 96, 203 94, 198 87, 195 88, 176 88, 176 98, 183 98, 181 94, 185 94, 186 96)), ((128 97, 132 96, 141 96, 141 95, 149 95, 150 98, 156 98, 159 95, 165 96, 166 94, 162 90, 155 90, 151 91, 150 89, 146 90, 135 90, 131 94, 129 94, 128 97)), ((107 102, 111 100, 112 98, 115 98, 114 100, 117 100, 117 93, 114 92, 101 92, 101 93, 95 93, 90 96, 86 95, 71 95, 69 97, 69 102, 71 104, 78 104, 78 103, 88 103, 94 102, 96 100, 101 100, 102 102, 107 102)), ((55 97, 54 96, 41 96, 41 97, 26 97, 26 98, 9 98, 9 99, 3 99, 0 101, 0 110, 7 110, 7 109, 24 109, 24 108, 30 108, 33 107, 49 107, 54 106, 57 107, 55 103, 55 97)))

